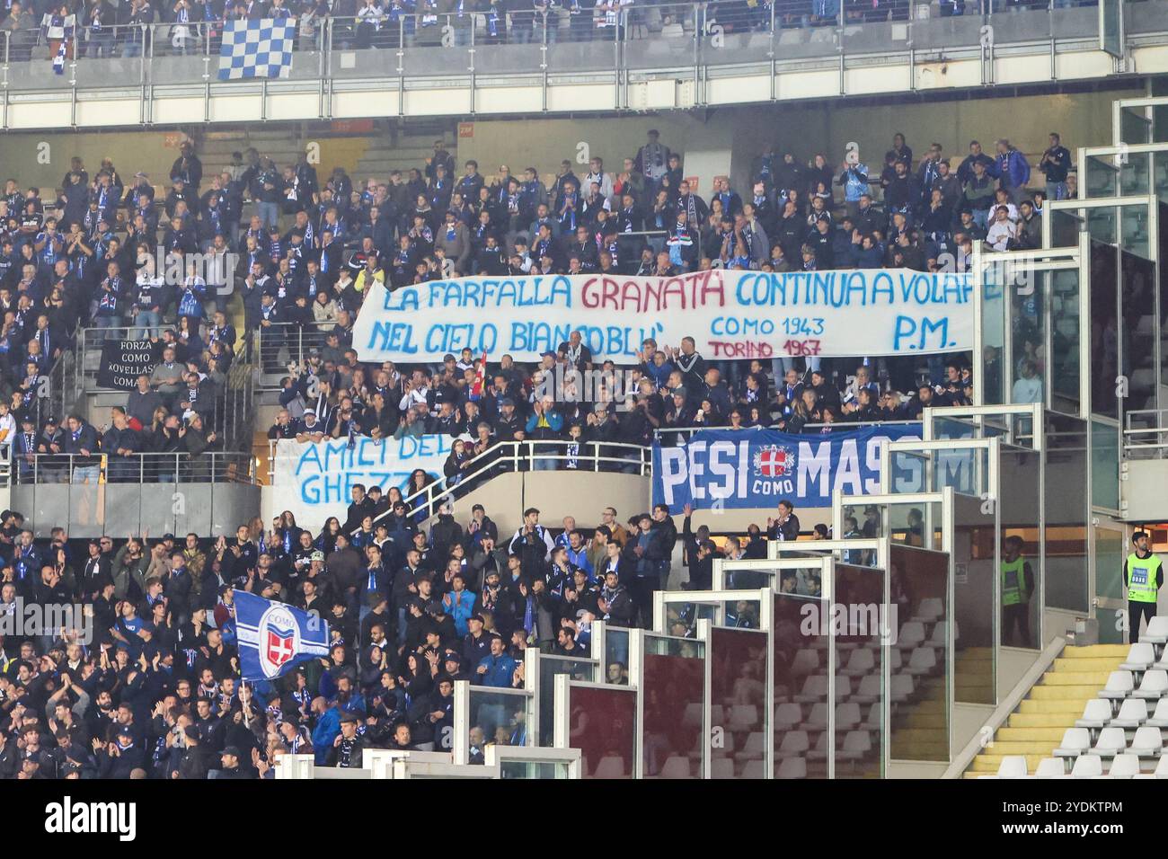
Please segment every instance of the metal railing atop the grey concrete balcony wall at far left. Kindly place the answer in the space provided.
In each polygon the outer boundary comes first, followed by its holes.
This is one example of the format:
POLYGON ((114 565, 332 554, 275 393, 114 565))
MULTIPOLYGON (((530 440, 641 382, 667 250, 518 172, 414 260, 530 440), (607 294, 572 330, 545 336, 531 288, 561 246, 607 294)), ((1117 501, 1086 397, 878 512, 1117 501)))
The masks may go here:
POLYGON ((25 453, 13 456, 12 484, 255 484, 250 453, 204 451, 199 455, 130 453, 25 453))

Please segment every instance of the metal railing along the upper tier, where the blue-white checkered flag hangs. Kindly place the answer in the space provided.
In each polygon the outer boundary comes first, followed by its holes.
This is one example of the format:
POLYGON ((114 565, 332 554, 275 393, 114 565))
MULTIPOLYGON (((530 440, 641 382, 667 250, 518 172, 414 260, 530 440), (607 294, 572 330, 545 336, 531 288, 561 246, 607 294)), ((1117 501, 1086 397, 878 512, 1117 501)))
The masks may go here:
MULTIPOLYGON (((997 46, 1045 47, 1049 42, 1054 55, 1058 40, 1099 37, 1097 11, 1078 8, 1094 7, 1093 0, 1048 0, 1026 7, 966 0, 964 14, 957 16, 945 14, 952 9, 948 5, 919 0, 868 8, 839 0, 833 5, 830 15, 818 15, 819 5, 812 0, 776 0, 756 7, 737 2, 634 5, 611 13, 585 2, 565 4, 551 13, 391 11, 376 20, 308 15, 296 21, 296 60, 287 77, 321 82, 320 101, 327 115, 329 88, 324 82, 329 79, 457 76, 473 83, 477 75, 528 74, 545 79, 549 74, 616 71, 619 88, 630 71, 680 68, 691 71, 701 89, 703 70, 710 67, 763 63, 774 69, 788 61, 822 58, 839 62, 842 75, 847 56, 905 50, 922 55, 969 51, 992 67, 997 46), (994 30, 987 43, 982 27, 989 22, 994 30)), ((62 74, 54 71, 56 43, 42 34, 40 21, 29 19, 32 27, 4 30, 0 86, 16 92, 76 89, 95 82, 142 88, 218 82, 223 21, 118 25, 95 32, 79 18, 78 36, 68 49, 62 74)), ((1127 28, 1135 34, 1168 29, 1157 18, 1152 12, 1128 14, 1127 28)))

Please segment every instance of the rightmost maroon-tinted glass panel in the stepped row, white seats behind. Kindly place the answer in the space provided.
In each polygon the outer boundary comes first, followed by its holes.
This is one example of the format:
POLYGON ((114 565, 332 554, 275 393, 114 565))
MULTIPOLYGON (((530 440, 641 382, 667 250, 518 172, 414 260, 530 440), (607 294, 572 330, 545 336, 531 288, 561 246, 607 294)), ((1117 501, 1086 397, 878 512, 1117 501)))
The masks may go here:
POLYGON ((895 629, 884 602, 884 570, 836 563, 833 575, 832 633, 840 663, 834 775, 880 778, 884 774, 883 665, 895 629))

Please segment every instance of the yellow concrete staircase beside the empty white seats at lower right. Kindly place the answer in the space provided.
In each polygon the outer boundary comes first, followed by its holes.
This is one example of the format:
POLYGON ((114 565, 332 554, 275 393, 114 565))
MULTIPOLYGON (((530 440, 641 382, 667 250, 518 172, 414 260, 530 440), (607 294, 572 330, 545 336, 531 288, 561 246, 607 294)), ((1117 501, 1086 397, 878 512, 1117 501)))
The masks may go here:
POLYGON ((1063 733, 1075 727, 1086 702, 1107 685, 1107 676, 1120 666, 1127 650, 1126 644, 1064 647, 964 776, 997 773, 1004 755, 1026 755, 1027 770, 1034 773, 1058 748, 1063 733))

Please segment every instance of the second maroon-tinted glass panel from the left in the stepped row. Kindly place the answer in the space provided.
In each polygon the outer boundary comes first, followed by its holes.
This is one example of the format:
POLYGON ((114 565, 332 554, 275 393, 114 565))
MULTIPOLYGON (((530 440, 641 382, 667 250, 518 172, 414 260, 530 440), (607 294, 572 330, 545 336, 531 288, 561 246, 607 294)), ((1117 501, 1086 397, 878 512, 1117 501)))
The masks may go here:
POLYGON ((646 633, 642 694, 645 777, 704 777, 705 643, 646 633))

